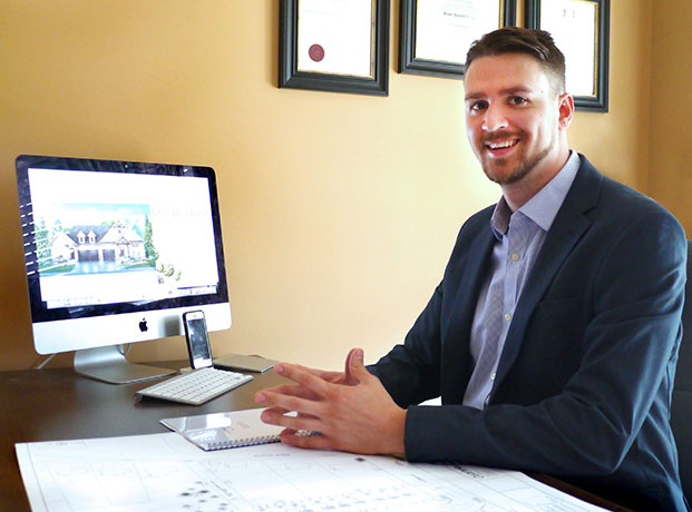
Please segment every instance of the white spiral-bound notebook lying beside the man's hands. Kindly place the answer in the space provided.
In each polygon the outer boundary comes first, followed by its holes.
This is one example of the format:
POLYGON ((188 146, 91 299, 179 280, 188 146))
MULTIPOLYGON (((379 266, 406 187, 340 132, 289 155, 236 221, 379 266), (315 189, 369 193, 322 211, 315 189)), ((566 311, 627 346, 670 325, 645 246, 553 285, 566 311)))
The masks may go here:
POLYGON ((224 450, 279 442, 282 426, 260 420, 263 408, 250 408, 198 416, 167 417, 160 423, 202 450, 224 450))

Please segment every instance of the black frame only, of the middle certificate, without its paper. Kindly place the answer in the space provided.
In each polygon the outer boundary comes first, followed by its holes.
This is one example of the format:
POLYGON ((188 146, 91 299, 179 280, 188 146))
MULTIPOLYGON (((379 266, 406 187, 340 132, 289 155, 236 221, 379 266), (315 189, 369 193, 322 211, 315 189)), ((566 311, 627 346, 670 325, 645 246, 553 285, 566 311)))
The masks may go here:
MULTIPOLYGON (((422 0, 426 1, 426 0, 422 0)), ((488 0, 484 0, 487 2, 488 0)), ((497 27, 516 23, 517 0, 496 0, 499 2, 497 27)), ((416 57, 416 26, 418 0, 401 0, 399 8, 399 72, 411 75, 429 75, 445 78, 464 78, 464 62, 421 59, 416 57)))

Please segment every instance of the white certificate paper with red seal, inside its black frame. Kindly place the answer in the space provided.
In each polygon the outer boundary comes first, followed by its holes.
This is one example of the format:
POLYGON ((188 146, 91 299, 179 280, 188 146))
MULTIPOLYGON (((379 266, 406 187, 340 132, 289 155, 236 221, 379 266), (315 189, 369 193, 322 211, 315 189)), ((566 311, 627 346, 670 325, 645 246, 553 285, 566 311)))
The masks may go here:
POLYGON ((298 70, 373 78, 373 0, 300 0, 298 70))

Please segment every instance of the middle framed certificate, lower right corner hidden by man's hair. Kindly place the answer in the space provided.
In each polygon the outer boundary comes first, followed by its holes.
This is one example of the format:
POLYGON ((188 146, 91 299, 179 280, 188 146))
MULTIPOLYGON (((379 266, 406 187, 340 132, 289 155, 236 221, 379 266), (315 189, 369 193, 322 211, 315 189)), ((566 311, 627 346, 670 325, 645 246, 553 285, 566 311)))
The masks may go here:
POLYGON ((516 0, 401 0, 399 72, 462 78, 484 33, 516 22, 516 0))

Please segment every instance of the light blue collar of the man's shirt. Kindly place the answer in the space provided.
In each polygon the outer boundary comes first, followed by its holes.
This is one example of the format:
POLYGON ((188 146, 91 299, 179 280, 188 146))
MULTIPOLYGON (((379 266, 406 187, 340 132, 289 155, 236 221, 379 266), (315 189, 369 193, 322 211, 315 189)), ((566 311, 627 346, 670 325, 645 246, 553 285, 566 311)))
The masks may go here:
MULTIPOLYGON (((555 216, 563 205, 569 187, 579 169, 579 156, 576 151, 569 151, 569 158, 563 168, 548 181, 534 197, 517 210, 533 220, 544 232, 547 232, 555 220, 555 216)), ((490 228, 498 240, 507 233, 511 209, 504 197, 495 206, 490 228)))

